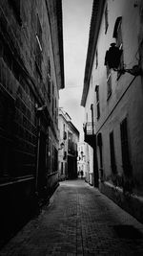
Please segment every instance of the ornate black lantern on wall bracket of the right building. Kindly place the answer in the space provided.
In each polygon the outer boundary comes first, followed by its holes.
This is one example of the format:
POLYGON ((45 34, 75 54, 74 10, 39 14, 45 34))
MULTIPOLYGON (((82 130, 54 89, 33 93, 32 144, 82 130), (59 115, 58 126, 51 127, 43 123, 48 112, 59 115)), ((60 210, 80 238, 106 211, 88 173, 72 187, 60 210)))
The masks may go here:
POLYGON ((139 65, 134 65, 131 69, 118 69, 120 58, 122 55, 122 50, 119 49, 115 43, 111 43, 110 49, 106 52, 105 56, 105 65, 108 65, 109 68, 114 71, 120 72, 120 74, 130 73, 134 77, 142 75, 142 70, 139 65))

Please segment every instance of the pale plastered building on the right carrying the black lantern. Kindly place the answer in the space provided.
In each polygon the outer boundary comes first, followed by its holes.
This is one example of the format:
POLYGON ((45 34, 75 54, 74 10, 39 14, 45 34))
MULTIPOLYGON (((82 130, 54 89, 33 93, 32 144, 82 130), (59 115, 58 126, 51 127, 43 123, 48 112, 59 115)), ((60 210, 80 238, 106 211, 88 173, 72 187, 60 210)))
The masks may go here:
POLYGON ((81 105, 99 188, 142 219, 142 1, 93 1, 81 105), (91 112, 91 116, 89 115, 91 112), (86 119, 87 118, 87 119, 86 119), (88 127, 92 124, 91 133, 88 127))

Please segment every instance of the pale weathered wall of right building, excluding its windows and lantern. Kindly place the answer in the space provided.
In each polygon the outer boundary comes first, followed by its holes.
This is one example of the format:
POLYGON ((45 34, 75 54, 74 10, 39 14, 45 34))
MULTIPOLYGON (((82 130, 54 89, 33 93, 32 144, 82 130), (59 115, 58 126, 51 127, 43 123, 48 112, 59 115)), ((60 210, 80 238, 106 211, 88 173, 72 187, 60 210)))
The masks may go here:
MULTIPOLYGON (((108 0, 108 29, 105 30, 105 9, 102 15, 97 43, 94 51, 90 89, 87 97, 86 112, 90 112, 92 104, 92 83, 99 85, 100 117, 96 119, 96 99, 94 97, 94 122, 96 135, 102 136, 103 176, 100 189, 121 207, 142 220, 143 196, 143 88, 142 75, 133 77, 129 73, 117 78, 117 72, 111 70, 112 93, 108 96, 107 69, 104 65, 106 51, 114 42, 112 37, 117 17, 122 17, 122 40, 124 68, 132 69, 133 65, 142 67, 142 1, 108 0), (96 54, 98 53, 98 61, 96 54), (98 66, 96 63, 98 62, 98 66), (121 151, 121 122, 127 118, 128 146, 131 160, 129 174, 123 169, 121 151), (111 168, 110 133, 113 131, 116 173, 111 168)), ((106 6, 105 6, 106 8, 106 6)), ((92 24, 92 33, 93 26, 92 24)), ((92 42, 93 43, 93 42, 92 42)), ((93 44, 92 44, 93 45, 93 44)), ((92 55, 92 54, 91 54, 92 55)), ((114 56, 114 58, 116 58, 114 56)), ((91 56, 92 59, 92 56, 91 56)), ((86 120, 86 117, 85 117, 86 120)), ((98 141, 97 141, 98 144, 98 141)), ((99 146, 99 145, 98 145, 99 146)), ((98 167, 100 168, 100 151, 97 147, 98 167)), ((100 170, 99 170, 100 172, 100 170)), ((100 174, 99 174, 100 176, 100 174)))

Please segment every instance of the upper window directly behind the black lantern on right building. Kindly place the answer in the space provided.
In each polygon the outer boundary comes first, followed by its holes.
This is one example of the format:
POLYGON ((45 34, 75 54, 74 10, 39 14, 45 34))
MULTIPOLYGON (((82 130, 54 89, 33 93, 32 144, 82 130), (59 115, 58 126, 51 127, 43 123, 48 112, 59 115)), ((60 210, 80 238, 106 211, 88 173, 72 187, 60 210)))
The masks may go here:
MULTIPOLYGON (((122 17, 117 17, 114 25, 113 35, 116 39, 116 46, 119 50, 122 51, 122 55, 120 57, 120 63, 118 66, 118 70, 122 70, 124 68, 124 58, 123 58, 123 39, 122 39, 122 17)), ((121 72, 118 71, 118 78, 120 77, 121 72)))

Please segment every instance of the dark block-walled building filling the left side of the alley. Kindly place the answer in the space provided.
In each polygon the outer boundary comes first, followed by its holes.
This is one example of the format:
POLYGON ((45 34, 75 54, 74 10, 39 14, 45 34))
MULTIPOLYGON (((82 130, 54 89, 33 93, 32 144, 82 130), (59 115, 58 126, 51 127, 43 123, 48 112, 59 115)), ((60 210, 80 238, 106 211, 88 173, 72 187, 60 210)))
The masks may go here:
POLYGON ((58 184, 61 1, 0 2, 1 237, 58 184))

